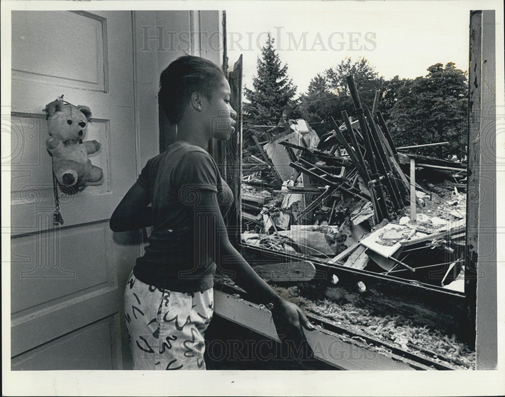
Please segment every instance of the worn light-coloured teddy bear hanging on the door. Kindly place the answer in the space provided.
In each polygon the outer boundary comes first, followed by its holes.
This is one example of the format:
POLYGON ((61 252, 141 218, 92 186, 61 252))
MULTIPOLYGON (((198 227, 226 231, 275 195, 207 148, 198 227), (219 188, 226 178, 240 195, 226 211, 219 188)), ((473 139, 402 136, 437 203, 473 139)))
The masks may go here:
POLYGON ((48 103, 44 111, 50 135, 45 145, 53 155, 53 171, 58 182, 76 188, 103 184, 102 168, 92 165, 88 159, 88 154, 97 152, 100 144, 95 140, 82 141, 91 110, 57 99, 48 103))

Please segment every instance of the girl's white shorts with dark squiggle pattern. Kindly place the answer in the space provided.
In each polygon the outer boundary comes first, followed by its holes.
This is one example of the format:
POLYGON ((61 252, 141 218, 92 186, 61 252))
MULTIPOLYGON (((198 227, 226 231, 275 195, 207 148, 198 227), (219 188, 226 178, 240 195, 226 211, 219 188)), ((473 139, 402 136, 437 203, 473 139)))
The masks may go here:
POLYGON ((212 288, 174 292, 126 283, 125 317, 134 370, 205 370, 204 333, 214 312, 212 288))

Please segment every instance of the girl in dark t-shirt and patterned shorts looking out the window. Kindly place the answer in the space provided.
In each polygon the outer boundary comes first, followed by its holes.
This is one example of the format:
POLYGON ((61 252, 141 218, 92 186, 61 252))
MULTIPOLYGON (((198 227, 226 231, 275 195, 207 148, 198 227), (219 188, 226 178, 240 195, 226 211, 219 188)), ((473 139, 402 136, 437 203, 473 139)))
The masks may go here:
POLYGON ((233 195, 205 149, 234 131, 230 95, 221 69, 203 58, 180 57, 161 74, 158 101, 177 126, 177 141, 147 161, 110 220, 114 232, 153 226, 125 290, 134 369, 205 369, 216 266, 255 301, 273 304, 283 339, 304 340, 301 327, 314 329, 228 240, 223 217, 233 195))

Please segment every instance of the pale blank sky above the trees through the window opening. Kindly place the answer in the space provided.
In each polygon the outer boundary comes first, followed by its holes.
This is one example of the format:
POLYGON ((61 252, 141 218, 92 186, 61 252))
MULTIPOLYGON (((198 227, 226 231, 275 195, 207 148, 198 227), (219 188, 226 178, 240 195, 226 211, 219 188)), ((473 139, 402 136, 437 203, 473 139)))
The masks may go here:
POLYGON ((435 63, 468 69, 470 8, 459 6, 465 3, 330 3, 296 2, 276 9, 256 2, 254 8, 227 8, 230 67, 242 54, 243 81, 252 88, 256 60, 270 31, 298 94, 318 72, 346 57, 365 57, 385 78, 426 75, 435 63))

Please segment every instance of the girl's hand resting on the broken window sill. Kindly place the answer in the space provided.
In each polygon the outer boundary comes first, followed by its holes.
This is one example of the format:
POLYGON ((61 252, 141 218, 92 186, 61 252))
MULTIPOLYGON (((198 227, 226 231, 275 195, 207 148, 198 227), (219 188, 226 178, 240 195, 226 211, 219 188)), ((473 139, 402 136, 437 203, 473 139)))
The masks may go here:
POLYGON ((316 329, 298 306, 282 298, 274 304, 271 312, 277 334, 283 343, 286 340, 307 341, 302 328, 309 331, 316 329))

